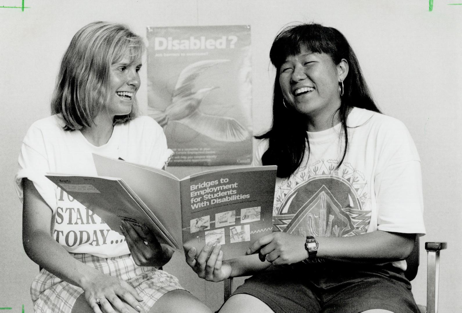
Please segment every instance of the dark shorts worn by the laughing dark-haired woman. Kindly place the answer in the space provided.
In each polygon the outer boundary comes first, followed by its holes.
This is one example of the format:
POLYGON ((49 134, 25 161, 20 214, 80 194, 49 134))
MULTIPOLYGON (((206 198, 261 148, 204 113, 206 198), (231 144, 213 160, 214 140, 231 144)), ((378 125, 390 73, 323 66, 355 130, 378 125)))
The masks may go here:
POLYGON ((249 294, 276 313, 359 313, 384 309, 419 313, 411 283, 391 266, 303 265, 262 272, 235 294, 249 294))

